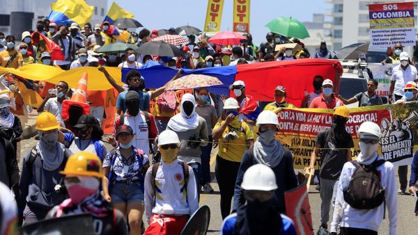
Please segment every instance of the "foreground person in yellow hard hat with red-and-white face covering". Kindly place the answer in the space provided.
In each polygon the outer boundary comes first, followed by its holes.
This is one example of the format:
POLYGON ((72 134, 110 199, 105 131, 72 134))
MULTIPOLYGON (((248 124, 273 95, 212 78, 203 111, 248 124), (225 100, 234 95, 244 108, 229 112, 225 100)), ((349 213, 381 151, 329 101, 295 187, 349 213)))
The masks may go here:
POLYGON ((127 234, 123 214, 100 195, 102 162, 98 156, 90 152, 73 154, 60 173, 65 175, 64 184, 70 198, 54 206, 47 218, 90 213, 95 234, 127 234))

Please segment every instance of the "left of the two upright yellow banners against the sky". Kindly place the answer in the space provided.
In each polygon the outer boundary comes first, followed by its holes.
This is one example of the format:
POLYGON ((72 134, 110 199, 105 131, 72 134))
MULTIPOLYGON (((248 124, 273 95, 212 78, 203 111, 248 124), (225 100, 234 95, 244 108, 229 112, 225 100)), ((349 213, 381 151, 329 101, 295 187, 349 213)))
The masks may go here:
POLYGON ((206 11, 205 28, 203 31, 219 31, 221 29, 222 10, 224 0, 208 0, 208 10, 206 11))

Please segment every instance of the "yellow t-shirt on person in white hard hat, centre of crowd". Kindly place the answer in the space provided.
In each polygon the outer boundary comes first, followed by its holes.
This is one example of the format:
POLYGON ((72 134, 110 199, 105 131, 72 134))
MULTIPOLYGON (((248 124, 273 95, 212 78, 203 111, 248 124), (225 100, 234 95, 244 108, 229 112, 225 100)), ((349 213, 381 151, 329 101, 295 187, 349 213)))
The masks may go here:
MULTIPOLYGON (((222 123, 225 121, 218 121, 213 130, 215 131, 219 127, 221 127, 222 123)), ((229 133, 231 127, 226 127, 224 133, 222 133, 221 138, 219 138, 219 152, 218 155, 222 157, 222 159, 228 161, 235 161, 240 162, 242 160, 242 156, 246 149, 249 146, 245 145, 246 140, 254 140, 254 132, 251 130, 247 122, 241 122, 241 128, 235 129, 235 133, 238 134, 238 138, 235 140, 228 140, 224 142, 224 135, 229 133), (224 144, 227 143, 227 144, 224 144)), ((217 140, 215 140, 217 141, 217 140)))

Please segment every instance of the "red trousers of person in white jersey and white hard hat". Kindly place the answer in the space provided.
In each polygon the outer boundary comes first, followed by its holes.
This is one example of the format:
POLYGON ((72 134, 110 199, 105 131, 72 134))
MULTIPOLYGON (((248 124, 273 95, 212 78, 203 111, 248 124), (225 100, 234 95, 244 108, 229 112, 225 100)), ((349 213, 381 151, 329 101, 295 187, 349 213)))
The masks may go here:
POLYGON ((153 214, 150 226, 144 235, 179 235, 185 227, 189 216, 167 216, 153 214))

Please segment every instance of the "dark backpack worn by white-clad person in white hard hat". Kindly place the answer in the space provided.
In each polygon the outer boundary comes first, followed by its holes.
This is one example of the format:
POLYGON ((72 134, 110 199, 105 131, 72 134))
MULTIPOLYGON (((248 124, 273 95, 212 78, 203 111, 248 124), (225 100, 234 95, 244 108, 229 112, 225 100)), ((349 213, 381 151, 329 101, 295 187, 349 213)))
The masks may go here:
POLYGON ((385 202, 385 188, 380 183, 376 168, 385 163, 378 160, 371 165, 350 161, 356 166, 348 188, 343 189, 344 201, 355 209, 374 209, 385 202))

